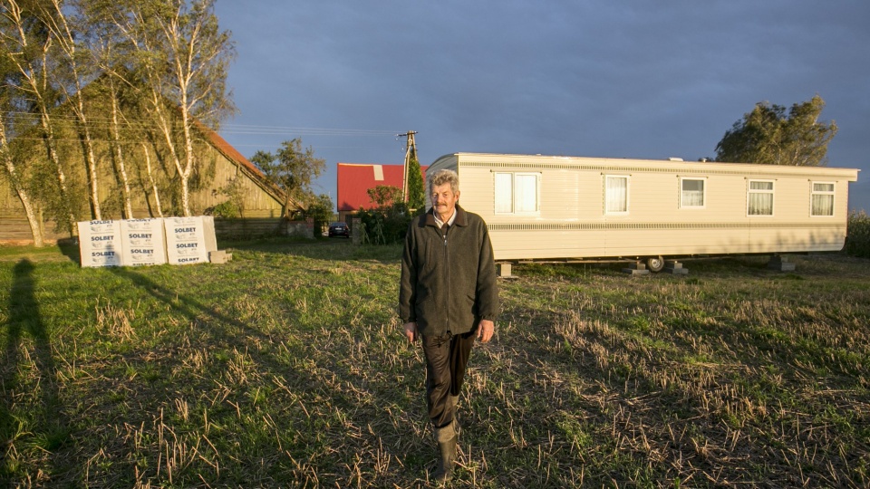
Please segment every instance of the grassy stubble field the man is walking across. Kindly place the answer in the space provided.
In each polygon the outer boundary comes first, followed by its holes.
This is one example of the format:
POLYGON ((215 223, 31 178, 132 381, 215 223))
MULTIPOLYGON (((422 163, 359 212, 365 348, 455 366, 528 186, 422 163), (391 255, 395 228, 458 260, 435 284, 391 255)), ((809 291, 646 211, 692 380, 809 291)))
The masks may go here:
MULTIPOLYGON (((137 269, 0 248, 0 486, 428 484, 399 248, 233 248, 137 269)), ((870 260, 796 261, 515 266, 452 486, 870 485, 870 260)))

